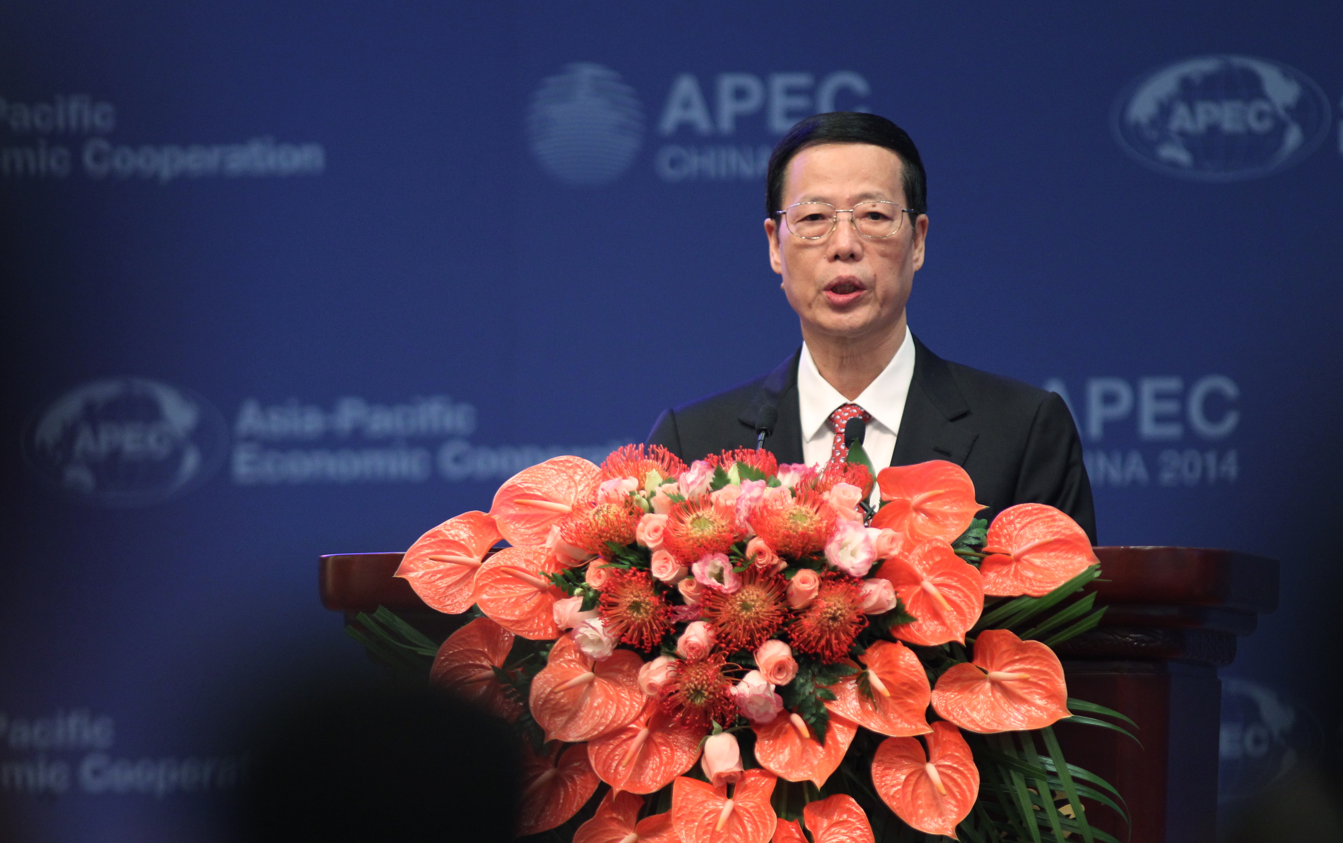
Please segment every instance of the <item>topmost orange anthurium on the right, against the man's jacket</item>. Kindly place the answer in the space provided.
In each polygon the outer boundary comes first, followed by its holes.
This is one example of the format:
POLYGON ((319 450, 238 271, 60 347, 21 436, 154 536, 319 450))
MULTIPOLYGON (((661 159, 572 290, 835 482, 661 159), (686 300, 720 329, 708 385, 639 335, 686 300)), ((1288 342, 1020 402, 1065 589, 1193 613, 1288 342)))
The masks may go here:
POLYGON ((975 513, 975 485, 966 470, 944 459, 917 466, 890 466, 877 473, 881 499, 889 501, 872 526, 905 533, 916 541, 955 541, 970 528, 975 513))

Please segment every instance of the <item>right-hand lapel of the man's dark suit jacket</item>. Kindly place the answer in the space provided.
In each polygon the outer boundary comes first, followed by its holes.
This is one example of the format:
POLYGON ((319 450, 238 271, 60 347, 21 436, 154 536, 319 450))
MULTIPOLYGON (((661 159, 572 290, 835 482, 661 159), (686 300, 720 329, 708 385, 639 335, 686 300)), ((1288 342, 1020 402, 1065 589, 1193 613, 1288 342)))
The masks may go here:
POLYGON ((915 337, 915 379, 909 384, 890 464, 912 466, 945 459, 964 466, 979 438, 968 427, 968 416, 970 405, 951 375, 951 366, 915 337))

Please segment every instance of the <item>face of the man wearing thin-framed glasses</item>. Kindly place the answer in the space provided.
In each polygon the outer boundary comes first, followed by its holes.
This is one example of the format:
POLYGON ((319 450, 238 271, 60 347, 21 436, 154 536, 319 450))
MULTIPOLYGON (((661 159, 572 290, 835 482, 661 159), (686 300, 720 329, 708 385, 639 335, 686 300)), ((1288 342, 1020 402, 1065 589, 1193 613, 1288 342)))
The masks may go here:
MULTIPOLYGON (((853 208, 865 200, 888 200, 904 208, 900 157, 870 144, 823 144, 803 149, 784 173, 780 208, 823 201, 853 208)), ((783 291, 802 319, 803 336, 864 340, 894 332, 905 313, 915 272, 923 266, 928 217, 884 239, 864 238, 849 213, 821 240, 788 232, 780 215, 766 220, 770 264, 783 275, 783 291), (783 226, 783 230, 779 230, 783 226)))

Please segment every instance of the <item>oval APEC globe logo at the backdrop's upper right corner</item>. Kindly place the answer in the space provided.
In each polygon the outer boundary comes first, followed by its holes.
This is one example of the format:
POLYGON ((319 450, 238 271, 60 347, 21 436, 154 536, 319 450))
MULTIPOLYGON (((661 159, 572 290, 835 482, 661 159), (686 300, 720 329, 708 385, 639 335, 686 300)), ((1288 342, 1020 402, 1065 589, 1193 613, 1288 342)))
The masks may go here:
POLYGON ((1305 74, 1266 59, 1176 62, 1116 99, 1119 144, 1143 164, 1199 181, 1257 179, 1291 166, 1330 130, 1330 101, 1305 74))

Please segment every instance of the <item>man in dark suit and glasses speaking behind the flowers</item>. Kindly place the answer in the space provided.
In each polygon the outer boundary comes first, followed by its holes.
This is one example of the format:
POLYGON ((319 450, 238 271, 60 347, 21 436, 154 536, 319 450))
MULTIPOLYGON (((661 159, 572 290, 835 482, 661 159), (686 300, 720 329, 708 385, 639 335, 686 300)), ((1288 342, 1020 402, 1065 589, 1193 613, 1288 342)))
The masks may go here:
POLYGON ((937 357, 905 303, 928 236, 927 181, 909 136, 884 117, 810 117, 766 175, 770 266, 802 348, 764 377, 667 409, 649 442, 685 460, 756 447, 808 466, 847 454, 862 419, 873 466, 951 460, 986 517, 1014 503, 1064 510, 1096 541, 1082 448, 1062 399, 937 357))

